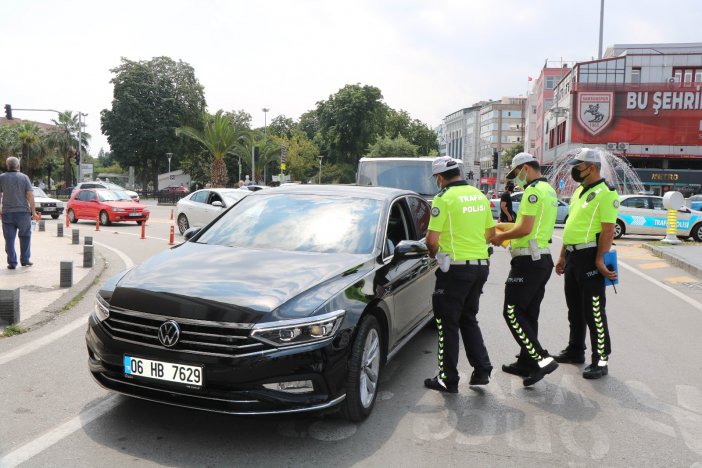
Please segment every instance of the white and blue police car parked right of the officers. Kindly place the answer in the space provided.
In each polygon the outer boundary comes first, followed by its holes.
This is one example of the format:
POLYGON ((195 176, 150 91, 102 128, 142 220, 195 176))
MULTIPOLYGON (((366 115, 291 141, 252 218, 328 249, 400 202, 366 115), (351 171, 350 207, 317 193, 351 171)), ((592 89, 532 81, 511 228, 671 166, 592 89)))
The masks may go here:
MULTIPOLYGON (((614 229, 615 239, 625 234, 666 235, 668 211, 663 206, 663 197, 622 195, 620 200, 617 225, 614 229)), ((702 241, 702 211, 691 210, 686 206, 680 208, 677 236, 702 241)))

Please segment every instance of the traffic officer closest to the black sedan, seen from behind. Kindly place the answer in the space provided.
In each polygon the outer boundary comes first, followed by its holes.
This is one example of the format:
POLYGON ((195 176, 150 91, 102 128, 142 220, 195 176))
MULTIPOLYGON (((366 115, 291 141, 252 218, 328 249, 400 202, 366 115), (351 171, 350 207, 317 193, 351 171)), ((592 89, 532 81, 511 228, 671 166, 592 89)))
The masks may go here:
POLYGON ((470 384, 490 381, 492 365, 476 316, 489 273, 488 241, 495 234, 495 222, 490 202, 461 178, 454 159, 434 160, 432 174, 441 189, 432 202, 426 239, 430 255, 439 261, 432 295, 439 332, 439 373, 424 385, 457 393, 459 331, 474 368, 470 384))

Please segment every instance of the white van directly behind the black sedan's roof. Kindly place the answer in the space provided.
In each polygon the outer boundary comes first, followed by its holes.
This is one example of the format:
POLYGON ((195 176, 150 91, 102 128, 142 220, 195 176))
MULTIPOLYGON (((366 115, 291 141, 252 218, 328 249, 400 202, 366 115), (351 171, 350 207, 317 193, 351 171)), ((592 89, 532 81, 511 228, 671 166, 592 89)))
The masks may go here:
MULTIPOLYGON (((394 187, 412 190, 427 199, 439 191, 431 174, 436 158, 361 158, 358 161, 356 183, 374 187, 394 187)), ((463 161, 458 161, 461 177, 465 178, 463 161)))

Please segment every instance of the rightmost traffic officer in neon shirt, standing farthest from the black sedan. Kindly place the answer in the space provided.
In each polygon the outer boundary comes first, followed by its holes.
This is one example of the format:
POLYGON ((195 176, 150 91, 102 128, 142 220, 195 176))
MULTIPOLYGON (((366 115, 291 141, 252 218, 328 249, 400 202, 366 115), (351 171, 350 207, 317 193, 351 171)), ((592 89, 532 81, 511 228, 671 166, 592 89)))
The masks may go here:
POLYGON ((570 338, 556 356, 561 363, 585 362, 585 326, 590 331, 592 363, 583 371, 586 379, 608 374, 612 351, 605 313, 605 281, 614 281, 603 256, 612 246, 619 195, 600 176, 601 156, 596 149, 582 149, 573 160, 571 175, 581 185, 573 192, 563 230, 563 248, 556 273, 565 273, 570 338))

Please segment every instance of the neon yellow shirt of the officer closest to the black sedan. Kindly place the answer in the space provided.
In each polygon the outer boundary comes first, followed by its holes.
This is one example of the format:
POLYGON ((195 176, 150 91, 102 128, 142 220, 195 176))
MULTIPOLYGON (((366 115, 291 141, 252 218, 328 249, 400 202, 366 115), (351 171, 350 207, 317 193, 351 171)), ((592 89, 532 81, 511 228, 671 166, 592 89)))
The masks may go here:
POLYGON ((466 181, 453 182, 434 197, 429 230, 439 232, 439 252, 452 260, 488 258, 485 230, 495 221, 490 201, 466 181))

